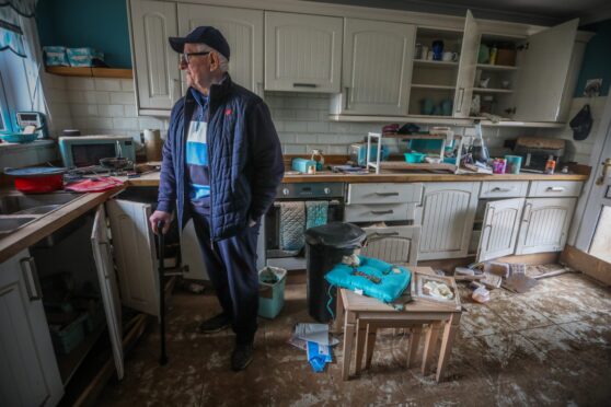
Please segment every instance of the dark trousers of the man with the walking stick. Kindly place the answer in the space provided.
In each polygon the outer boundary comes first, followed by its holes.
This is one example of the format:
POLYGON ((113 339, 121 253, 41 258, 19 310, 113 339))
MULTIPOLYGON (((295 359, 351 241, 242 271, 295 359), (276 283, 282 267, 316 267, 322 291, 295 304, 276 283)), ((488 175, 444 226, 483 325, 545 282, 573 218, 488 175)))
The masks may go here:
POLYGON ((260 224, 211 243, 208 218, 197 213, 192 213, 192 218, 210 281, 223 313, 232 317, 237 342, 252 344, 258 312, 256 240, 260 224))

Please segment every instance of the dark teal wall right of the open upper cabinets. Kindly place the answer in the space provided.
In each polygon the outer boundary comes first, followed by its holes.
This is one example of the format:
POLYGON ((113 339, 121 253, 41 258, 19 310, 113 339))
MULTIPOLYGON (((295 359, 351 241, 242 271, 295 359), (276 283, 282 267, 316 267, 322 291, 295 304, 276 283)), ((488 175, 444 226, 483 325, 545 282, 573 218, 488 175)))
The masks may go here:
POLYGON ((575 88, 575 97, 584 95, 587 79, 602 78, 601 96, 609 94, 611 84, 611 20, 585 25, 579 30, 590 31, 596 35, 588 42, 579 79, 575 88))

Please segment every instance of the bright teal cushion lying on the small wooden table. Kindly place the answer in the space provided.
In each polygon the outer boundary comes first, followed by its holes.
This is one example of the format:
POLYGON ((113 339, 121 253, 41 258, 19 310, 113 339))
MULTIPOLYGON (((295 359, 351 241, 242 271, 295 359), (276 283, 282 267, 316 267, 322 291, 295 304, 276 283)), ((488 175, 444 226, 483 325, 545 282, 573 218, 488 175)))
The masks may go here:
POLYGON ((362 290, 368 296, 383 302, 396 300, 410 284, 411 271, 377 258, 358 256, 360 265, 356 268, 338 264, 325 275, 330 284, 351 291, 362 290), (356 274, 355 274, 356 271, 356 274))

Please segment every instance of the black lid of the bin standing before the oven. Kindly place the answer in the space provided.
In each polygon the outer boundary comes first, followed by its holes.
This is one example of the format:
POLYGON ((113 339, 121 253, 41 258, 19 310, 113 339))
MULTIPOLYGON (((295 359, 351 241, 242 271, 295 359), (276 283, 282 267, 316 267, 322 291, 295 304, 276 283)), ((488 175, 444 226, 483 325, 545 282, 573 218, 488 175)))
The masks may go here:
POLYGON ((356 224, 331 222, 306 231, 306 242, 310 245, 325 245, 335 248, 360 247, 367 233, 356 224))

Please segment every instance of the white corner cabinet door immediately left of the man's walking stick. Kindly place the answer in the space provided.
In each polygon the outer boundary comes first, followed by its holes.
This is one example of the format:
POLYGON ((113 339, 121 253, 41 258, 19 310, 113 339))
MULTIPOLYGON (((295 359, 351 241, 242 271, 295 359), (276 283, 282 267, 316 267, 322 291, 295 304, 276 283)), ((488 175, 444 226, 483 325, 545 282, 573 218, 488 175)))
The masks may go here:
POLYGON ((159 279, 151 206, 122 199, 106 202, 123 304, 159 315, 159 279))

